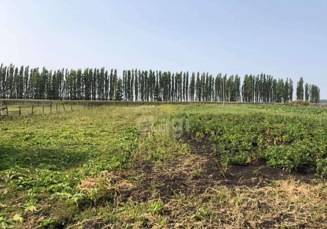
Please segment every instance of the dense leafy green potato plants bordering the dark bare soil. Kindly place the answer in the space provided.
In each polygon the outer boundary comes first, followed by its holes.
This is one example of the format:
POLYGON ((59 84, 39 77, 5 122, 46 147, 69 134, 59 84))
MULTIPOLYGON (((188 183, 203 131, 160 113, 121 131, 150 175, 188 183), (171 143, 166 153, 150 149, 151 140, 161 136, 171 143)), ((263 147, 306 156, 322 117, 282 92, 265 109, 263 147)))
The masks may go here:
POLYGON ((226 164, 245 165, 264 159, 275 168, 297 170, 314 166, 319 175, 326 175, 326 116, 300 115, 325 114, 326 110, 248 107, 277 112, 191 114, 189 130, 210 140, 214 152, 221 155, 226 164))

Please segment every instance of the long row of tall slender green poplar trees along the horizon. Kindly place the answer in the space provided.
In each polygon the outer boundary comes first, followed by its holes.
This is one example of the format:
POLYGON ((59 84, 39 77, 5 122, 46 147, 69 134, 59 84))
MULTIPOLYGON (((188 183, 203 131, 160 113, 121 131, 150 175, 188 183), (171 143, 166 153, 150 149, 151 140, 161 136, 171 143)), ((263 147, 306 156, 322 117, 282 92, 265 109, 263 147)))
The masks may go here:
MULTIPOLYGON (((292 79, 271 75, 245 75, 243 83, 237 74, 216 77, 209 73, 170 72, 154 70, 123 70, 105 68, 58 69, 45 67, 20 68, 10 64, 0 66, 0 97, 3 99, 59 100, 129 100, 129 101, 247 101, 288 102, 293 100, 292 79)), ((297 99, 318 103, 320 89, 297 84, 297 99)))

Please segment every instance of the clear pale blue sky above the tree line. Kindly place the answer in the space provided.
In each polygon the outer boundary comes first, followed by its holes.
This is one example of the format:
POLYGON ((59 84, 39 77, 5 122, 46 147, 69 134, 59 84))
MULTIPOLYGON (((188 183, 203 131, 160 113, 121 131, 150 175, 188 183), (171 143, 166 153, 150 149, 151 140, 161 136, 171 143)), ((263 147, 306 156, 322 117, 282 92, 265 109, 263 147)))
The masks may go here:
MULTIPOLYGON (((0 63, 260 74, 327 99, 325 1, 0 0, 0 63)), ((295 88, 294 88, 295 90, 295 88)))

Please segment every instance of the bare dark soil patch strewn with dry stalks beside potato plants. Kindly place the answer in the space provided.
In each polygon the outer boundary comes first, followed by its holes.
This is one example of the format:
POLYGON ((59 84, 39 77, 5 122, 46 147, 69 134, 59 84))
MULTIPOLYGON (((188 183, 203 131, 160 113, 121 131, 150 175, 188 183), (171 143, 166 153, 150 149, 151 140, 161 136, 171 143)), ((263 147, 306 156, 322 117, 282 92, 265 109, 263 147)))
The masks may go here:
MULTIPOLYGON (((182 135, 181 141, 191 146, 189 158, 176 157, 168 162, 140 164, 141 182, 133 190, 121 193, 125 197, 146 201, 154 192, 163 199, 175 194, 201 194, 215 185, 227 187, 262 187, 273 180, 286 180, 292 176, 295 180, 310 183, 315 176, 313 168, 304 167, 298 171, 285 171, 267 166, 265 160, 249 165, 221 164, 220 156, 212 153, 212 143, 202 138, 195 140, 192 134, 182 135), (151 187, 153 181, 158 188, 151 187)), ((142 162, 144 163, 144 162, 142 162)), ((267 222, 269 223, 269 222, 267 222)))

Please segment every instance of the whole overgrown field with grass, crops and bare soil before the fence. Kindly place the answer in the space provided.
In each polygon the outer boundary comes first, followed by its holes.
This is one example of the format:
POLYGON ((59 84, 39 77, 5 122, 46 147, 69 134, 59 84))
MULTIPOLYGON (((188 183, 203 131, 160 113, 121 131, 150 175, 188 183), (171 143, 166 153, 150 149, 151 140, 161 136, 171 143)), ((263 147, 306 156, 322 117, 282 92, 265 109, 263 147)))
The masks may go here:
POLYGON ((39 109, 0 119, 0 228, 326 228, 325 109, 39 109))

